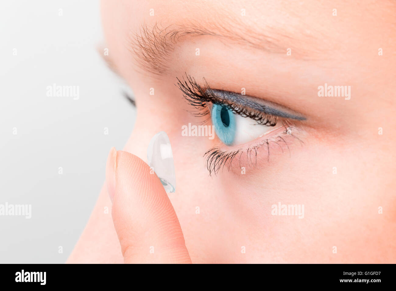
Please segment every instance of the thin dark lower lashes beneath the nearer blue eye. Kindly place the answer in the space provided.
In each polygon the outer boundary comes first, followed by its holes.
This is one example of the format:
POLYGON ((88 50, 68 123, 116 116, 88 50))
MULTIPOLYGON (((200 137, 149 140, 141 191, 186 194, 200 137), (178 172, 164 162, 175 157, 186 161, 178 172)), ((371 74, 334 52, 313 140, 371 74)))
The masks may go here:
POLYGON ((220 150, 219 147, 214 147, 208 150, 205 154, 204 157, 206 157, 206 168, 209 171, 209 176, 212 175, 217 175, 220 170, 223 171, 224 166, 228 163, 228 171, 230 170, 232 166, 232 161, 235 158, 239 158, 239 167, 241 168, 241 158, 244 152, 246 152, 246 160, 247 160, 247 165, 250 166, 255 166, 257 164, 257 150, 261 148, 262 146, 267 146, 267 155, 268 155, 268 162, 270 158, 270 148, 272 144, 278 146, 281 148, 282 153, 284 153, 284 149, 289 152, 289 155, 291 155, 291 151, 289 148, 288 143, 286 142, 287 138, 293 137, 294 139, 297 139, 300 142, 300 145, 303 146, 304 142, 301 141, 297 136, 295 136, 292 133, 288 133, 288 131, 298 131, 297 127, 286 127, 286 124, 284 124, 285 131, 282 133, 276 135, 275 137, 270 137, 268 139, 264 139, 261 141, 258 145, 252 146, 247 148, 246 151, 242 150, 242 148, 238 150, 233 150, 233 151, 223 151, 220 150), (284 146, 282 146, 284 145, 284 146), (252 154, 254 155, 254 163, 252 159, 252 154), (250 162, 249 162, 250 161, 250 162), (250 164, 249 164, 250 163, 250 164))

